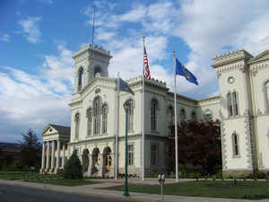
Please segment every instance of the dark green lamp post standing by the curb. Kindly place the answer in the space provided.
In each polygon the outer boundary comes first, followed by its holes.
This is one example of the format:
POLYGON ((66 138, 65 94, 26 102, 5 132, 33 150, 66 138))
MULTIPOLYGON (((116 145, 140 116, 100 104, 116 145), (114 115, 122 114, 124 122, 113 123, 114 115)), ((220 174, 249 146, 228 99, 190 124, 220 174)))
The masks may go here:
POLYGON ((126 110, 126 183, 125 183, 125 192, 123 193, 122 196, 124 197, 129 197, 129 191, 128 191, 128 159, 127 159, 127 156, 128 156, 128 152, 127 152, 127 138, 128 138, 128 110, 130 108, 130 101, 127 100, 125 103, 124 103, 124 109, 126 110))

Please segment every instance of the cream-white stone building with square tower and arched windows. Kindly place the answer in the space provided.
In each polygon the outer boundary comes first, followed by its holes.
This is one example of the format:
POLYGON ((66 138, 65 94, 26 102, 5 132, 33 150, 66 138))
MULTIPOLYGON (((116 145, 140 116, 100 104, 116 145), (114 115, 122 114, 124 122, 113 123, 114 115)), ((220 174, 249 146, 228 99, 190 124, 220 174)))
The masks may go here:
MULTIPOLYGON (((128 114, 128 171, 141 176, 142 168, 142 77, 126 81, 134 92, 119 93, 118 162, 117 79, 108 77, 108 51, 85 46, 74 54, 74 93, 71 127, 48 125, 42 132, 41 171, 63 168, 74 150, 84 175, 114 176, 124 173, 125 111, 128 114), (47 149, 49 145, 49 148, 47 149), (59 148, 59 149, 58 149, 59 148), (49 157, 47 157, 49 156, 49 157)), ((220 82, 220 96, 196 101, 177 95, 178 121, 220 119, 223 172, 269 169, 269 51, 253 57, 245 50, 213 59, 220 82)), ((166 83, 145 80, 144 171, 166 170, 167 137, 174 119, 174 98, 166 83)))

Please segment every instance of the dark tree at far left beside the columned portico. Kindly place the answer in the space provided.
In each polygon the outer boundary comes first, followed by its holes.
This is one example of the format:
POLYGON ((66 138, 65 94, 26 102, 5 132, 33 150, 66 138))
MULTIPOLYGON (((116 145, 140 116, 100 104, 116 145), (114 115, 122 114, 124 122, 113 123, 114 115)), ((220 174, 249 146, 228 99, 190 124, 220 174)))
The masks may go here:
POLYGON ((27 133, 22 133, 22 141, 20 142, 22 165, 37 166, 41 162, 42 146, 39 143, 38 136, 32 129, 28 129, 27 133))

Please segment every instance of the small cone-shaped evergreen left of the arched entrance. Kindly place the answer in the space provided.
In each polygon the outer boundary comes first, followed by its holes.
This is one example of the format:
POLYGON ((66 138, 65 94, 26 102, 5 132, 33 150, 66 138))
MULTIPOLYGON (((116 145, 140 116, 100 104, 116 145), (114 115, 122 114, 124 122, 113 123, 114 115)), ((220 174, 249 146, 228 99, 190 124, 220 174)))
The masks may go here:
POLYGON ((63 176, 65 179, 82 179, 82 163, 75 151, 65 163, 63 176))

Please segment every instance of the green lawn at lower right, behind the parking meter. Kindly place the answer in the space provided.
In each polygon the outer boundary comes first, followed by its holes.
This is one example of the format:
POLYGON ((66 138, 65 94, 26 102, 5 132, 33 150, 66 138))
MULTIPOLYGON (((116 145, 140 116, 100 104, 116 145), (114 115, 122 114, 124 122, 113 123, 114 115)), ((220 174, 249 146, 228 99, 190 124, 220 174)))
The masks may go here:
MULTIPOLYGON (((102 189, 124 190, 124 186, 102 189)), ((160 185, 129 184, 130 192, 160 194, 160 185)), ((165 195, 209 197, 209 198, 269 198, 269 183, 266 181, 238 181, 237 186, 232 181, 189 181, 164 186, 165 195)))

